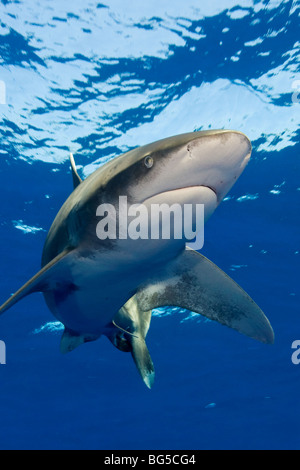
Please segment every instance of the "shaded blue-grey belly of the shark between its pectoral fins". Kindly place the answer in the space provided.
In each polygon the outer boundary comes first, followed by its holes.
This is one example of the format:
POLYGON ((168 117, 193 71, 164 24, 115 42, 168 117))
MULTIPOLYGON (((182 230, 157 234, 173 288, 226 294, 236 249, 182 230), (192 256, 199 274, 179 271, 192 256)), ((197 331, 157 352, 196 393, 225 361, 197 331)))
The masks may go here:
POLYGON ((107 258, 102 252, 91 252, 90 257, 74 253, 68 260, 64 281, 43 293, 45 301, 68 329, 100 336, 136 293, 136 286, 155 272, 163 272, 166 262, 184 249, 183 240, 126 240, 115 247, 115 257, 111 252, 107 258), (128 257, 132 253, 128 244, 133 244, 135 256, 128 257))

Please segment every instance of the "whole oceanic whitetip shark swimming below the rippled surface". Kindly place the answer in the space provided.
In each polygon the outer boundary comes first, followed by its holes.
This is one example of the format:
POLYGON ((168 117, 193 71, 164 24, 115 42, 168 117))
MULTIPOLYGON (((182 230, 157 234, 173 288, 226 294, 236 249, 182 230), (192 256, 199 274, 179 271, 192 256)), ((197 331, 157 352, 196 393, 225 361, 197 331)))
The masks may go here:
POLYGON ((1 307, 42 292, 65 331, 61 351, 106 335, 130 351, 151 388, 154 367, 145 344, 151 311, 178 306, 264 343, 274 334, 261 309, 230 277, 186 240, 99 240, 97 208, 129 204, 204 204, 211 216, 251 155, 236 131, 193 132, 131 150, 81 181, 71 155, 74 191, 46 239, 42 269, 1 307))

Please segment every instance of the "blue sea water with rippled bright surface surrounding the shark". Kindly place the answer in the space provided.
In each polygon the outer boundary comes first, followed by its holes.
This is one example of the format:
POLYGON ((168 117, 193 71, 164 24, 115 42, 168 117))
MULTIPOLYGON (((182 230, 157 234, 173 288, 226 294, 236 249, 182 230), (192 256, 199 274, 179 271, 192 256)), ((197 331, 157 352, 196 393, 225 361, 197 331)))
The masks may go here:
POLYGON ((299 2, 2 0, 0 18, 1 301, 39 270, 70 150, 85 177, 138 145, 229 128, 253 157, 203 253, 276 335, 155 311, 149 391, 106 338, 62 356, 32 295, 0 319, 0 448, 299 449, 299 2))

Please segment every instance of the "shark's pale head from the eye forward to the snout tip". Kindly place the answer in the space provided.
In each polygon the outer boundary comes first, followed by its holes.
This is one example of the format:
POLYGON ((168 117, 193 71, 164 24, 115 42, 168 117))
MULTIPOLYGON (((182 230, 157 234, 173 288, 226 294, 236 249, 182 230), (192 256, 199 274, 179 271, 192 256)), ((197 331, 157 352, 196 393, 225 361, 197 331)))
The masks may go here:
POLYGON ((182 134, 139 147, 111 162, 115 176, 108 187, 115 194, 127 195, 132 203, 202 203, 207 218, 250 155, 251 143, 241 132, 182 134))

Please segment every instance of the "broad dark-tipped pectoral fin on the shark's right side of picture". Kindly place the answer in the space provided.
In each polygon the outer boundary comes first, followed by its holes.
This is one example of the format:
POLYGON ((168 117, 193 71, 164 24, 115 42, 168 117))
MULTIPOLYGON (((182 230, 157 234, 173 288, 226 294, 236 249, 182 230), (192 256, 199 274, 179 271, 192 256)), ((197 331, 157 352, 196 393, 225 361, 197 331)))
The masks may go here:
POLYGON ((187 249, 159 279, 140 288, 139 307, 178 306, 200 313, 263 343, 272 327, 256 303, 227 274, 200 253, 187 249))

